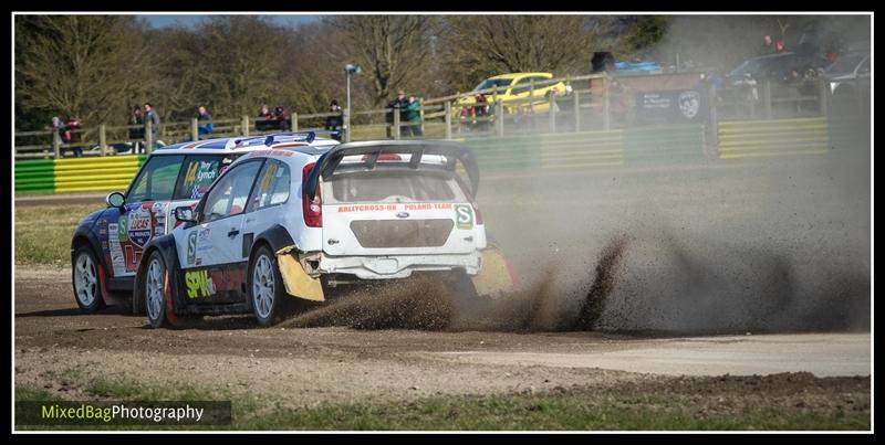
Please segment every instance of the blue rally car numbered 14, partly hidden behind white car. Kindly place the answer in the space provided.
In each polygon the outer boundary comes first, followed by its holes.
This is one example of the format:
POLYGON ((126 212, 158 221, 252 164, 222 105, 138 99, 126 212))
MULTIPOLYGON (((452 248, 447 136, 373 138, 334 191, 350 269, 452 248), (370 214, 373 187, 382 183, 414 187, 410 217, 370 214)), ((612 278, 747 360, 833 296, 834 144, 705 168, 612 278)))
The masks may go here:
MULTIPOLYGON (((171 218, 171 209, 196 205, 235 159, 268 148, 323 150, 337 144, 305 131, 210 139, 157 149, 128 190, 108 194, 107 208, 87 215, 74 232, 71 264, 77 305, 83 311, 93 312, 104 305, 128 303, 145 246, 180 224, 171 218)), ((140 308, 133 305, 135 311, 140 308)))

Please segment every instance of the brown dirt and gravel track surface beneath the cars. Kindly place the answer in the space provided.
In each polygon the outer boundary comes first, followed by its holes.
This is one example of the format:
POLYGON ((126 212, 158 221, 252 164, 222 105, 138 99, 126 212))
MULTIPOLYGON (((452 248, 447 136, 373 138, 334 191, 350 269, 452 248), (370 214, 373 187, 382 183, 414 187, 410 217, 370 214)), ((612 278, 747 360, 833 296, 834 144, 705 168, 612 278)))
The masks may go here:
MULTIPOLYGON (((15 296, 17 382, 62 391, 69 398, 87 396, 82 383, 59 378, 72 372, 81 381, 123 378, 144 384, 208 384, 233 393, 288 394, 294 404, 572 386, 616 390, 668 381, 658 374, 870 374, 866 333, 666 338, 257 329, 249 317, 207 318, 184 330, 152 330, 144 317, 114 309, 81 315, 67 271, 51 268, 18 269, 15 296)), ((856 392, 858 382, 861 388, 868 384, 868 379, 793 375, 796 386, 800 381, 815 388, 826 382, 842 392, 856 392)), ((783 379, 751 378, 752 391, 775 390, 783 379)))

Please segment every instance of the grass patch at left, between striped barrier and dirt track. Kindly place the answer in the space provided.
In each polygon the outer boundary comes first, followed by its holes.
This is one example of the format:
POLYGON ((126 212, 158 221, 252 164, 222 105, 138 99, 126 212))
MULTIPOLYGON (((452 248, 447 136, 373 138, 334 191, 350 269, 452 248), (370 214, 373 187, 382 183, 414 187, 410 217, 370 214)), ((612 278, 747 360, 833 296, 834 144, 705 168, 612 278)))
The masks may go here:
POLYGON ((69 266, 74 230, 96 210, 94 204, 15 209, 15 264, 69 266))

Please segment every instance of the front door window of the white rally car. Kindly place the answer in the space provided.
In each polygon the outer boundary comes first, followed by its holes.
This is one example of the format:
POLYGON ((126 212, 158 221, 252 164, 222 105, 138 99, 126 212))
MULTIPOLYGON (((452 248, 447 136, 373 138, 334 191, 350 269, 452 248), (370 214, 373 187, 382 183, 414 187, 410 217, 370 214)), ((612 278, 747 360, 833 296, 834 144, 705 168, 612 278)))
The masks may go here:
POLYGON ((209 190, 201 222, 207 223, 242 213, 261 165, 262 160, 248 161, 222 176, 209 190))

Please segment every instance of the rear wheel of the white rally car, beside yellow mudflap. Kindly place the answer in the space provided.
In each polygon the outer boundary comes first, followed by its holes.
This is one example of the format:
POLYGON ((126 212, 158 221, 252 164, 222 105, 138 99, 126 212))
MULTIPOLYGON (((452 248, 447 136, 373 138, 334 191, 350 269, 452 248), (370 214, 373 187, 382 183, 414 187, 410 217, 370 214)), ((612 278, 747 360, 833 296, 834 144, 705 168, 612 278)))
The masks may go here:
POLYGON ((291 297, 285 295, 277 258, 261 246, 249 266, 249 298, 258 324, 271 326, 283 319, 291 297))

